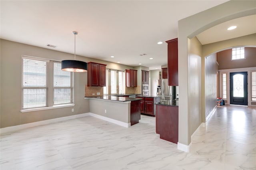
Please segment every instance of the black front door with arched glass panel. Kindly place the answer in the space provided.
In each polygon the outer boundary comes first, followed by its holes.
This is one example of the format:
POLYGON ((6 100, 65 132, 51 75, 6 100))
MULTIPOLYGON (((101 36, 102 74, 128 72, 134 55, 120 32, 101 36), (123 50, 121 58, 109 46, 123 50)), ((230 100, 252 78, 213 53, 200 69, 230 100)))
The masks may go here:
POLYGON ((247 72, 230 73, 230 104, 248 105, 247 72))

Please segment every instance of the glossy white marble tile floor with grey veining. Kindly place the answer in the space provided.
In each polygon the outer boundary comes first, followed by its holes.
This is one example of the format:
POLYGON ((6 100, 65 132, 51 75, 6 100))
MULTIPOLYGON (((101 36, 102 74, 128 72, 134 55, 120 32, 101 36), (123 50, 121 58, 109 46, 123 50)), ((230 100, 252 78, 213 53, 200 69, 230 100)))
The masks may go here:
POLYGON ((155 117, 130 128, 82 117, 0 136, 1 170, 255 170, 256 108, 218 106, 190 153, 159 138, 155 117))

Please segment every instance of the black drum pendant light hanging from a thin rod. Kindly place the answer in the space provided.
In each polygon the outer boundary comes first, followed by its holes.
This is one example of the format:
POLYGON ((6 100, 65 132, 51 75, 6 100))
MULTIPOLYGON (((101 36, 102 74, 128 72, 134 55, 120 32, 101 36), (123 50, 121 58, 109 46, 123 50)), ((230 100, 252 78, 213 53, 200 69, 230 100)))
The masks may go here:
POLYGON ((61 61, 61 70, 70 72, 86 72, 87 63, 84 61, 76 60, 76 35, 77 32, 73 32, 75 35, 75 59, 74 60, 63 60, 61 61))

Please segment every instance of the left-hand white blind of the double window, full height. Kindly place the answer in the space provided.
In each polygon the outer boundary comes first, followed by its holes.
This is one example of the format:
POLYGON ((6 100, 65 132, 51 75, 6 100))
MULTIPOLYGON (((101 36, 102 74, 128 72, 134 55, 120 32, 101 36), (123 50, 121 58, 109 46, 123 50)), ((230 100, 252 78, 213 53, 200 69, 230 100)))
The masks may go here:
POLYGON ((22 57, 22 109, 47 106, 48 61, 22 57))

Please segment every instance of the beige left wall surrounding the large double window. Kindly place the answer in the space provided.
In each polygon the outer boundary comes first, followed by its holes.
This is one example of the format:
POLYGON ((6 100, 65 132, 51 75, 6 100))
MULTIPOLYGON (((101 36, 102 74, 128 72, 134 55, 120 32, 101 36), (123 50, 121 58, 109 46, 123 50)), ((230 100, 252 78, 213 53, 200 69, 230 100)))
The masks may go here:
MULTIPOLYGON (((90 111, 89 100, 84 99, 84 90, 85 86, 87 86, 87 72, 85 72, 74 73, 74 107, 21 113, 22 55, 62 61, 65 59, 73 59, 74 54, 11 42, 8 40, 1 39, 0 41, 0 128, 88 113, 90 111), (71 112, 72 108, 74 108, 74 112, 71 112)), ((107 64, 106 67, 109 69, 123 71, 128 68, 133 69, 133 67, 126 65, 82 57, 79 55, 76 55, 76 59, 85 62, 92 61, 107 64)))

